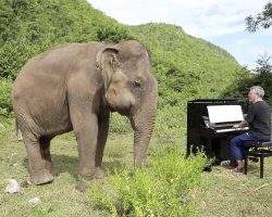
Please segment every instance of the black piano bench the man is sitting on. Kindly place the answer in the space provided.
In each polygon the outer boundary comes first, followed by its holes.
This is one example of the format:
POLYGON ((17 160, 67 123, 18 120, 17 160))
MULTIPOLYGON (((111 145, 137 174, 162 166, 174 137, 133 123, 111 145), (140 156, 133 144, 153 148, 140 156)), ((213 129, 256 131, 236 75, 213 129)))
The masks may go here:
POLYGON ((264 157, 272 156, 272 140, 268 142, 247 141, 245 146, 245 175, 247 175, 248 157, 260 158, 260 178, 263 178, 263 161, 264 157))

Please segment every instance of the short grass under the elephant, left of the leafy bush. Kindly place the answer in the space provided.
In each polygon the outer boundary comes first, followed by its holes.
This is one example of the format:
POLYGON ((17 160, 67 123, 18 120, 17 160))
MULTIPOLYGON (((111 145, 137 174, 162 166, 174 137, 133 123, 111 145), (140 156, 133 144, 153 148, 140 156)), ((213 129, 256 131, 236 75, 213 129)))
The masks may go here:
POLYGON ((1 140, 0 149, 1 216, 99 216, 86 204, 88 196, 74 190, 78 164, 74 140, 53 141, 52 159, 60 176, 52 183, 29 186, 12 195, 4 192, 8 179, 14 177, 20 182, 29 180, 26 151, 15 137, 1 140), (28 201, 36 196, 41 200, 41 204, 33 207, 28 201))

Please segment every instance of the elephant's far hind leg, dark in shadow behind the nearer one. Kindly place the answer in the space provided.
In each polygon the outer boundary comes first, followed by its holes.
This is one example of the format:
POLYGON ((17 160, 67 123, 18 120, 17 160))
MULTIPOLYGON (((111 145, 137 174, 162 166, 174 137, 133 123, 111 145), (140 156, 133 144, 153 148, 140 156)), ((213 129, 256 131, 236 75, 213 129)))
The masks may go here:
POLYGON ((53 167, 53 163, 51 159, 50 154, 50 141, 51 138, 40 138, 40 151, 41 151, 41 157, 46 161, 46 168, 50 171, 52 176, 59 176, 58 169, 53 167))

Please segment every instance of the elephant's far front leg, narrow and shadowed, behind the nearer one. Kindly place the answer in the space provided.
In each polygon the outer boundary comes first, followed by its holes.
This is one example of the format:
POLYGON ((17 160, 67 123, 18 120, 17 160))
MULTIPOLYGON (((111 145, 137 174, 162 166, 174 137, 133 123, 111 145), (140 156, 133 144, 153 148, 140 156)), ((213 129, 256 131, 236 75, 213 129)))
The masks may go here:
POLYGON ((98 118, 98 141, 96 153, 96 178, 103 178, 104 171, 101 167, 104 145, 109 133, 110 111, 103 111, 103 114, 98 118))

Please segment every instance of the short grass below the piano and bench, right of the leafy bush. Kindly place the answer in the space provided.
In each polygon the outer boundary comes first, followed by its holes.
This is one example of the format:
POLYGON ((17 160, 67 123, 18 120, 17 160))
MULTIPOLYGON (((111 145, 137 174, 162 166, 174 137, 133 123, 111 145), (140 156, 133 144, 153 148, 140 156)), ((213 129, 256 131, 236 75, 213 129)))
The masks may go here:
POLYGON ((264 159, 264 178, 259 163, 249 163, 248 175, 213 167, 206 174, 210 188, 199 206, 199 216, 272 216, 272 157, 264 159))

